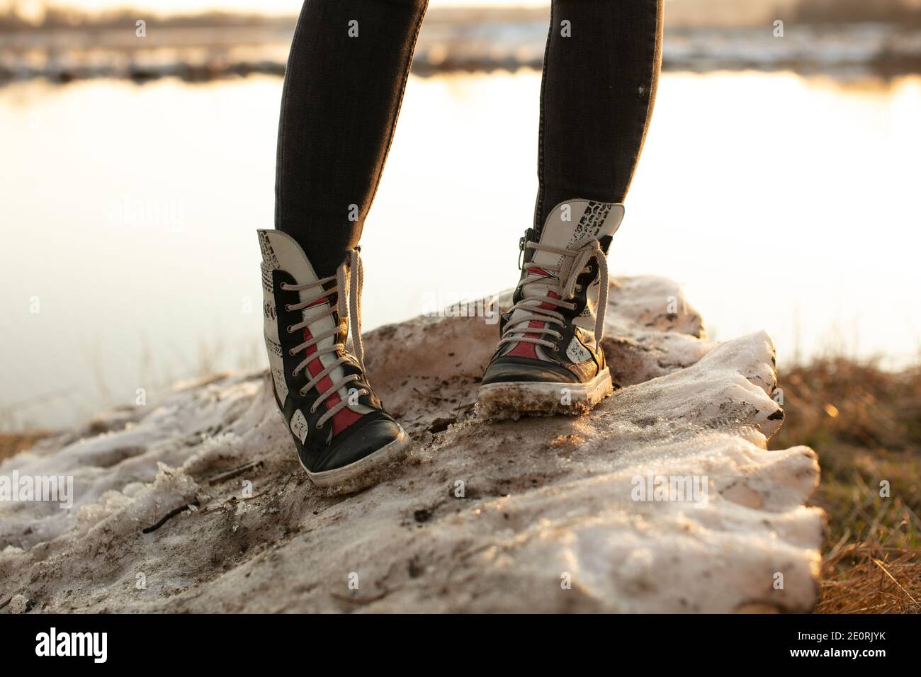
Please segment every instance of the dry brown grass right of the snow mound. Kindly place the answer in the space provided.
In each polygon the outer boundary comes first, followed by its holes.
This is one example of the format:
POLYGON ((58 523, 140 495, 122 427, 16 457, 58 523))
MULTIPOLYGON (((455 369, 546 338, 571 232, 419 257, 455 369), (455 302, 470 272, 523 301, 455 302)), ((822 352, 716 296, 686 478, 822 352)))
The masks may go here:
POLYGON ((782 371, 780 383, 787 419, 772 447, 809 445, 822 465, 816 611, 921 613, 921 368, 829 358, 782 371))

